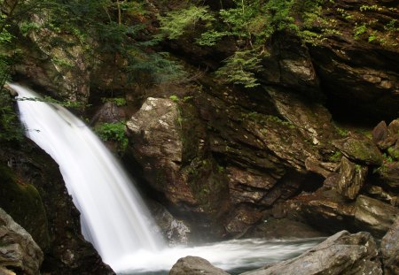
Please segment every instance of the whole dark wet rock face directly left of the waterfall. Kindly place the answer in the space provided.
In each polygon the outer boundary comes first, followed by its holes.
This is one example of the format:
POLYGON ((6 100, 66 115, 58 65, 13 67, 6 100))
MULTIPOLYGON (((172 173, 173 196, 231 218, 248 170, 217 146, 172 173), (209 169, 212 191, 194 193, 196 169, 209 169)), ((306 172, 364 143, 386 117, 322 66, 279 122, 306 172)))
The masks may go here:
POLYGON ((113 274, 92 245, 84 241, 80 214, 67 194, 59 166, 32 141, 3 145, 0 207, 42 248, 45 256, 40 271, 113 274))

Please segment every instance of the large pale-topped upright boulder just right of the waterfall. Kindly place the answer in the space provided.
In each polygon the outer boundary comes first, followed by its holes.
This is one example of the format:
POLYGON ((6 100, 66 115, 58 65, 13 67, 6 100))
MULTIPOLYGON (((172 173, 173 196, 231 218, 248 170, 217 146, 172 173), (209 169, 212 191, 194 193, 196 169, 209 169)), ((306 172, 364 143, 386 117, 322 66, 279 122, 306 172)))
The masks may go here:
POLYGON ((183 141, 179 119, 175 102, 149 97, 127 122, 129 140, 133 155, 152 187, 174 204, 193 205, 197 201, 180 172, 183 141))

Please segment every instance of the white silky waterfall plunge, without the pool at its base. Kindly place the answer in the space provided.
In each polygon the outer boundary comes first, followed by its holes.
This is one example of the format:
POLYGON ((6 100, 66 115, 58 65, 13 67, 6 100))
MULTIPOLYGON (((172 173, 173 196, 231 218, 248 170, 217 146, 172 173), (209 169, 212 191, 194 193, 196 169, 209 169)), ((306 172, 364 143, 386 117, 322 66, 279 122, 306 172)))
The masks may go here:
POLYGON ((82 233, 113 267, 139 249, 157 251, 160 237, 134 184, 98 137, 79 118, 54 103, 23 100, 40 98, 30 89, 10 84, 19 98, 20 120, 29 139, 59 164, 81 211, 82 233))

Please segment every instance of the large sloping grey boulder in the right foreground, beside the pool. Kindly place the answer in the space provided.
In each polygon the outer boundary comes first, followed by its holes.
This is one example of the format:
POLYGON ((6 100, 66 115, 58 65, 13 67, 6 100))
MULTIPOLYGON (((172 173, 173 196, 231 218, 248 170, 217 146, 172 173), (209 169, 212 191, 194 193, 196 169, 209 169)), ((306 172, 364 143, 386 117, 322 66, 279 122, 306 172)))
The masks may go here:
POLYGON ((381 275, 378 248, 370 233, 332 235, 301 256, 242 275, 316 275, 371 274, 381 275))

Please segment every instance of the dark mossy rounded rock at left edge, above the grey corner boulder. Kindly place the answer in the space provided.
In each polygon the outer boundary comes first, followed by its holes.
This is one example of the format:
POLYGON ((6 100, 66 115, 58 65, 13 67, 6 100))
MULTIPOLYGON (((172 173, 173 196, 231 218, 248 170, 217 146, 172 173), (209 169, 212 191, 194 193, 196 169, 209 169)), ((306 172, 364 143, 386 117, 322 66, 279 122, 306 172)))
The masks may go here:
POLYGON ((48 222, 39 192, 3 164, 0 164, 0 208, 31 234, 43 251, 49 248, 48 222))

